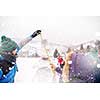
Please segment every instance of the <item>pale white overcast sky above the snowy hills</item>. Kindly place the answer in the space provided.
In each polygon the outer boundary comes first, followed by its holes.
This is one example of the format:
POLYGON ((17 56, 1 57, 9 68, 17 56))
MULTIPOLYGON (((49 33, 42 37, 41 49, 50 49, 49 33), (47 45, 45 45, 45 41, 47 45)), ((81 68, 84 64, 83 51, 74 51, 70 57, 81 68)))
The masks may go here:
MULTIPOLYGON (((71 44, 87 41, 100 32, 100 17, 27 16, 0 17, 0 36, 24 38, 37 29, 54 43, 71 44)), ((36 38, 38 40, 39 38, 36 38)))

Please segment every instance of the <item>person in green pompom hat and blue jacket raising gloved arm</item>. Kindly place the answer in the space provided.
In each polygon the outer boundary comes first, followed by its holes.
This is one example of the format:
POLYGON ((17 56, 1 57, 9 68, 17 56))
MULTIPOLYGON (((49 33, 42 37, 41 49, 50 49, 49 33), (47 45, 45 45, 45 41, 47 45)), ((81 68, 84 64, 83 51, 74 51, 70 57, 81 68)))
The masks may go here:
POLYGON ((18 51, 22 49, 33 38, 41 34, 41 30, 35 31, 32 35, 17 44, 12 39, 2 36, 0 46, 0 83, 14 83, 18 71, 16 58, 18 51))

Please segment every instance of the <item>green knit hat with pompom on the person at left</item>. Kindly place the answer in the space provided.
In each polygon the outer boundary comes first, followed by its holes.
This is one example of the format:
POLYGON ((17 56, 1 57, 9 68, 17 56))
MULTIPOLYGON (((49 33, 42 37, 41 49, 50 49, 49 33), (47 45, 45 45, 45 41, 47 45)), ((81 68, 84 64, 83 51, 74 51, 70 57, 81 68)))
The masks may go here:
POLYGON ((17 43, 6 36, 1 37, 0 54, 11 52, 18 47, 17 43))

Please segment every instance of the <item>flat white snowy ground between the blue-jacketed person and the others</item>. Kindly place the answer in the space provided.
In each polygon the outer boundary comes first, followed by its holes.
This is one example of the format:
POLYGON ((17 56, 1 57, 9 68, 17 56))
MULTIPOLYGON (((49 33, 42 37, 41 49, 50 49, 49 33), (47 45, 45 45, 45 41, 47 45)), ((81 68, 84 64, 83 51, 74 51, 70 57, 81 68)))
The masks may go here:
POLYGON ((17 58, 19 71, 15 83, 52 82, 52 73, 47 61, 41 58, 17 58))

